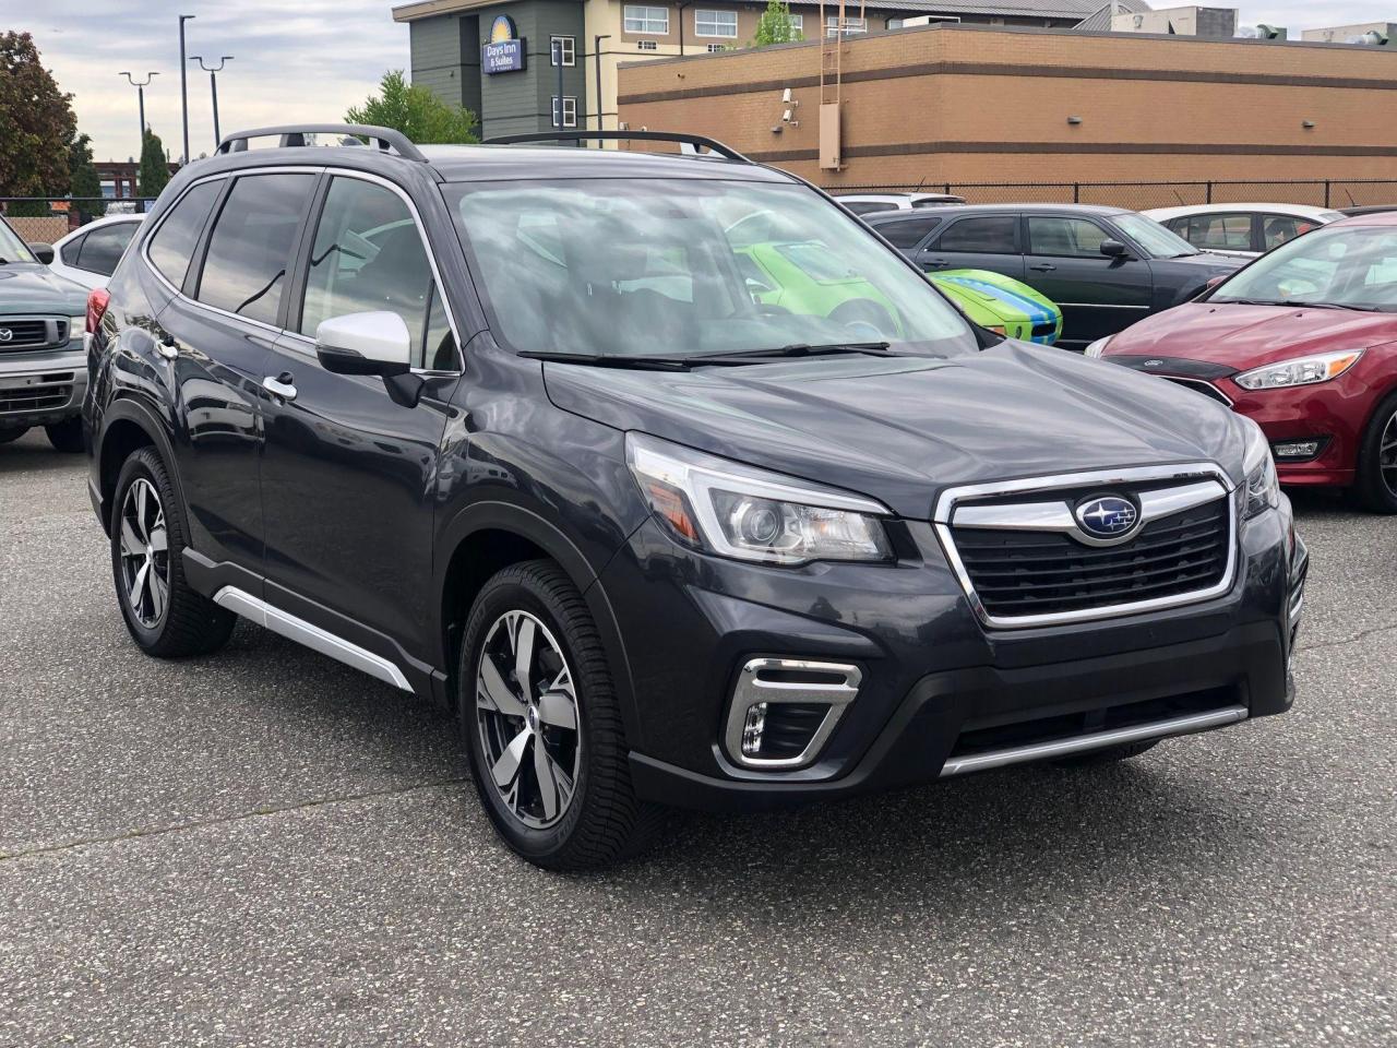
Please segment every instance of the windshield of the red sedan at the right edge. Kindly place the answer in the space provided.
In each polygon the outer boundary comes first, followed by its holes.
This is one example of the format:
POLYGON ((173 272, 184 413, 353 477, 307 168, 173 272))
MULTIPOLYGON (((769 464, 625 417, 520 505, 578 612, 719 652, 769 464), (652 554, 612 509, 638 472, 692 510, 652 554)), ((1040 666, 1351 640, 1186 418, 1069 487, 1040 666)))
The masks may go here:
POLYGON ((1263 254, 1208 300, 1397 310, 1397 228, 1323 226, 1263 254))

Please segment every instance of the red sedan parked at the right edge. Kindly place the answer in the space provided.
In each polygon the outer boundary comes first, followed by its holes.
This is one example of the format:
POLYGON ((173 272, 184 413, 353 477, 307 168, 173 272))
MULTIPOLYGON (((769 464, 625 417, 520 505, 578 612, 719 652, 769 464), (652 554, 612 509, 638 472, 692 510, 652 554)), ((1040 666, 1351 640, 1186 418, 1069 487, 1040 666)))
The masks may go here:
POLYGON ((1281 483, 1397 513, 1397 212, 1296 238, 1087 355, 1256 419, 1281 483))

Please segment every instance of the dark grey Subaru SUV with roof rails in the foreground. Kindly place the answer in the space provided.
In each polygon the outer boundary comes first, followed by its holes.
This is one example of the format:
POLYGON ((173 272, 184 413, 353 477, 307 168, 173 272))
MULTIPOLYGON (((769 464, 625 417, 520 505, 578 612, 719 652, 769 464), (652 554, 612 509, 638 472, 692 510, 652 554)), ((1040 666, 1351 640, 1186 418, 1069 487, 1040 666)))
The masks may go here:
POLYGON ((664 805, 1289 707, 1306 558, 1249 421, 971 327, 715 143, 328 130, 182 170, 94 293, 91 495, 147 653, 242 615, 440 703, 553 868, 664 805), (882 309, 757 302, 754 236, 882 309))

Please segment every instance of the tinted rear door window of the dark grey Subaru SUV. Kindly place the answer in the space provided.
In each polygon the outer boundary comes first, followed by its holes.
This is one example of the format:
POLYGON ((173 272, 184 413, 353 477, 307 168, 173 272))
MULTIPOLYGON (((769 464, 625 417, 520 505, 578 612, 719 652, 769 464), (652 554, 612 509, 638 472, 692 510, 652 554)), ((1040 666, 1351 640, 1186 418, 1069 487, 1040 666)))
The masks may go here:
POLYGON ((250 175, 214 222, 198 300, 249 320, 277 323, 291 253, 314 175, 250 175))

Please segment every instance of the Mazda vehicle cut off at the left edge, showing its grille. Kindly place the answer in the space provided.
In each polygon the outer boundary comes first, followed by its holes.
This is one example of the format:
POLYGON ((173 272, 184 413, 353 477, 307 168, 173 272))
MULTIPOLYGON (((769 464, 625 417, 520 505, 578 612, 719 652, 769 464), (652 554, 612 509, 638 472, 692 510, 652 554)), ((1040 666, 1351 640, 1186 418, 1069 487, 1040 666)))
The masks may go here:
POLYGON ((52 259, 0 218, 0 444, 43 426, 59 451, 81 451, 87 295, 52 259))

